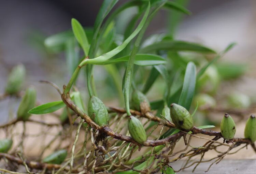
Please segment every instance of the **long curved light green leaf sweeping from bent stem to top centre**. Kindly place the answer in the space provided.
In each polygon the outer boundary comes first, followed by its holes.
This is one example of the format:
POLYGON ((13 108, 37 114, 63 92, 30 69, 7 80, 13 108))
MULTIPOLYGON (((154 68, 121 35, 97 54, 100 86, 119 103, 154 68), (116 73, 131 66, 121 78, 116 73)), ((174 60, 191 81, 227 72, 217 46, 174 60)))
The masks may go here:
POLYGON ((122 51, 126 46, 127 44, 140 32, 140 30, 142 29, 143 25, 145 24, 146 22, 146 18, 147 18, 147 15, 149 13, 149 10, 150 10, 150 3, 148 3, 148 6, 147 6, 147 10, 143 16, 143 18, 141 19, 140 21, 140 24, 138 25, 138 27, 132 32, 132 34, 121 44, 119 45, 118 47, 114 48, 113 50, 111 50, 110 52, 108 53, 105 53, 99 57, 96 57, 94 59, 85 59, 83 60, 81 63, 80 63, 80 66, 88 63, 88 64, 96 64, 96 63, 101 63, 101 62, 104 62, 108 59, 110 59, 111 57, 115 56, 116 54, 118 54, 120 51, 122 51))

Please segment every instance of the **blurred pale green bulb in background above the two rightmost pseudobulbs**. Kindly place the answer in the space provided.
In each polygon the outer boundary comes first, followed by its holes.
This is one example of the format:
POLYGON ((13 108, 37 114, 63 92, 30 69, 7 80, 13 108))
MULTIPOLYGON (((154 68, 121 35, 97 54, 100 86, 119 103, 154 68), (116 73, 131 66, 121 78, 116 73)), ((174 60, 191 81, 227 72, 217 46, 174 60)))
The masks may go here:
POLYGON ((228 96, 228 104, 230 107, 235 108, 248 108, 251 105, 251 100, 248 96, 239 93, 239 92, 232 92, 228 96))

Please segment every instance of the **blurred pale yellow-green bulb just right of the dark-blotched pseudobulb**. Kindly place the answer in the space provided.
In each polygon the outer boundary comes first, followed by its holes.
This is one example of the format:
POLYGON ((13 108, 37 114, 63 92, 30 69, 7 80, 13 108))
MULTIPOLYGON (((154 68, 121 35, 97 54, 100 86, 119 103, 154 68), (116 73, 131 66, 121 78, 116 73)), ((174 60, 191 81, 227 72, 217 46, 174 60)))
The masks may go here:
POLYGON ((194 104, 196 105, 197 102, 199 108, 216 106, 215 99, 206 93, 199 93, 198 95, 196 95, 194 98, 194 104))

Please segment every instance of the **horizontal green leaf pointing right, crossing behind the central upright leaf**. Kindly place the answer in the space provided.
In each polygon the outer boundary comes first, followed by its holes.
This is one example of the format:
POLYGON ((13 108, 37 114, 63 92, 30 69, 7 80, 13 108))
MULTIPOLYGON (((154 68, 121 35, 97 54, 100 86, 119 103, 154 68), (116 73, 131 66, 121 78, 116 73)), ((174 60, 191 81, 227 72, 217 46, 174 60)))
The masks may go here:
MULTIPOLYGON (((108 60, 105 62, 97 63, 97 64, 113 64, 113 63, 120 63, 120 62, 127 62, 130 56, 124 56, 113 60, 108 60)), ((134 58, 134 64, 139 66, 151 66, 151 65, 158 65, 158 64, 165 64, 166 60, 158 55, 154 54, 137 54, 134 58)))

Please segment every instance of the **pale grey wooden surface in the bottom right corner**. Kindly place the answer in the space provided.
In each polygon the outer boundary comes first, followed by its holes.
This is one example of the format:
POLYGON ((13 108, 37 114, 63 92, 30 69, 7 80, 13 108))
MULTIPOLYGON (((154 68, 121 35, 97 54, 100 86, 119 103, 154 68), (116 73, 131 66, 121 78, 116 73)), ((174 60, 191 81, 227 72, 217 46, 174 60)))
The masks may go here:
MULTIPOLYGON (((212 161, 213 162, 213 161, 212 161)), ((175 164, 171 163, 171 166, 178 170, 184 161, 177 161, 175 164)), ((201 163, 197 166, 193 174, 205 173, 210 166, 210 163, 201 163)), ((195 165, 194 165, 195 166, 195 165)), ((191 174, 194 166, 180 171, 177 174, 191 174)), ((256 174, 256 159, 246 160, 222 160, 218 164, 213 164, 208 172, 205 174, 256 174)))

